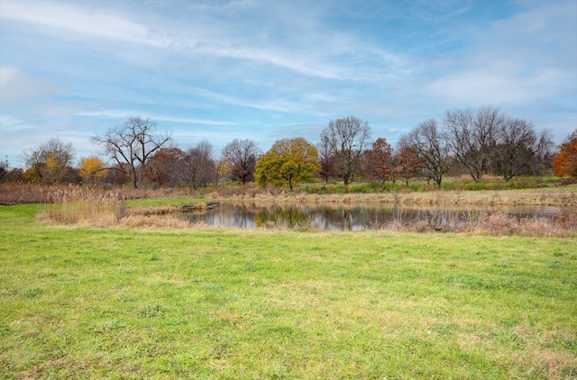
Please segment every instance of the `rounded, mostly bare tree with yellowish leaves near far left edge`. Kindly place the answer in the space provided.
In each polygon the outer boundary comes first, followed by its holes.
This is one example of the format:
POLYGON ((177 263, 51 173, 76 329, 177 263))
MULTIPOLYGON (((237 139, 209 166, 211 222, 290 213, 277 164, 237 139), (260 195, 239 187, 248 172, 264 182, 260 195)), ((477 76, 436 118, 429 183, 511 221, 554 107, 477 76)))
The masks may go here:
POLYGON ((71 143, 60 139, 50 139, 41 146, 24 152, 26 167, 33 173, 27 177, 36 178, 46 184, 60 184, 75 180, 74 169, 71 167, 74 159, 74 149, 71 143))

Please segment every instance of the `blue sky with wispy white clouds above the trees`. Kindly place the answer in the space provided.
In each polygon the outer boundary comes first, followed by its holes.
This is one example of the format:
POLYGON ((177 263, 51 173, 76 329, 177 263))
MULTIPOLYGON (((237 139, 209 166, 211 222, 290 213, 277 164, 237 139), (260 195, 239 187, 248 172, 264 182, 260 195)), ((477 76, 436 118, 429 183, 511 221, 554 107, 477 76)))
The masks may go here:
POLYGON ((398 137, 491 105, 577 128, 575 0, 1 0, 0 158, 50 138, 77 158, 131 115, 179 148, 318 141, 355 115, 398 137))

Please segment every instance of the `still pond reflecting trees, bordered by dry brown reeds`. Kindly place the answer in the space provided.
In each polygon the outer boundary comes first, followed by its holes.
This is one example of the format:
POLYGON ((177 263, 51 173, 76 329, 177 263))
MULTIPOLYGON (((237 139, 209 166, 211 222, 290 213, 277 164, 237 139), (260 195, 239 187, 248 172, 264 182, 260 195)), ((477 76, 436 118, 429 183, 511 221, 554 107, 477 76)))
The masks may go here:
MULTIPOLYGON (((573 210, 574 211, 574 210, 573 210)), ((550 206, 516 207, 408 207, 394 204, 233 204, 221 203, 205 213, 185 213, 189 222, 216 227, 310 228, 322 231, 359 231, 389 229, 393 223, 409 225, 426 221, 439 228, 447 224, 471 222, 486 213, 505 213, 517 219, 553 220, 566 209, 550 206)))

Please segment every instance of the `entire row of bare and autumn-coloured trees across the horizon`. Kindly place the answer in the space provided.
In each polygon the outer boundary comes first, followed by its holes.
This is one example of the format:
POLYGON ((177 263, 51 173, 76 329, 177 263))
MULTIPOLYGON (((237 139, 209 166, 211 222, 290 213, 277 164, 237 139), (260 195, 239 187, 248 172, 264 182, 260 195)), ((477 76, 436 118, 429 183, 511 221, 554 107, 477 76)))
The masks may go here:
POLYGON ((328 122, 315 145, 303 138, 281 139, 262 152, 253 140, 235 139, 219 158, 208 140, 188 149, 173 147, 157 122, 140 116, 92 138, 102 157, 80 159, 74 148, 50 139, 23 153, 26 169, 0 167, 0 180, 44 184, 87 183, 192 189, 234 181, 246 185, 288 186, 322 180, 385 183, 425 179, 441 187, 448 174, 577 176, 577 131, 555 147, 549 131, 486 106, 455 109, 442 120, 429 119, 401 136, 395 147, 384 137, 371 140, 369 122, 347 116, 328 122))

